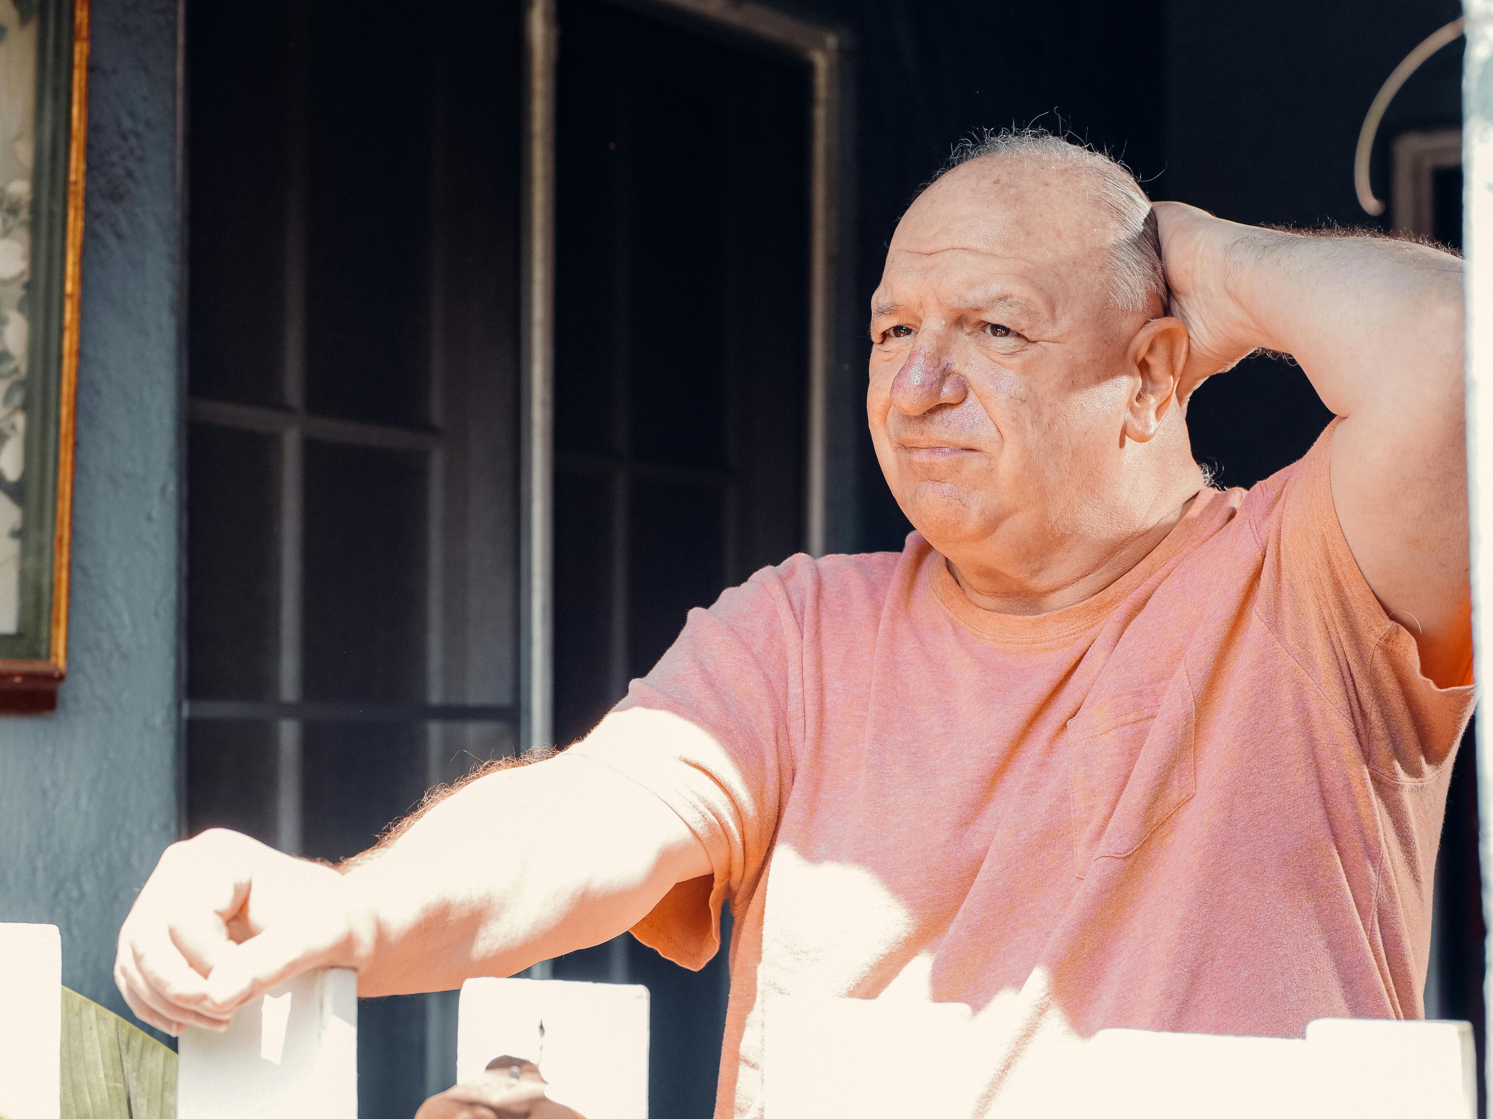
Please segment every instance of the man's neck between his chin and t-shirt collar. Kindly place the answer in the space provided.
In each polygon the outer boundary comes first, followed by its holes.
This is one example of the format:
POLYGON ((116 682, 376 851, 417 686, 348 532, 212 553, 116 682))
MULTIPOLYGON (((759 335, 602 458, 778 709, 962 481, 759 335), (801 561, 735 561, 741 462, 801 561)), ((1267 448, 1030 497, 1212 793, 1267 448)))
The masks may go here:
POLYGON ((1148 557, 1205 488, 1188 460, 1154 497, 1120 516, 1088 518, 1105 531, 1072 531, 1041 546, 947 555, 950 571, 975 606, 993 613, 1041 615, 1093 598, 1148 557), (1114 528, 1115 524, 1124 525, 1114 528))

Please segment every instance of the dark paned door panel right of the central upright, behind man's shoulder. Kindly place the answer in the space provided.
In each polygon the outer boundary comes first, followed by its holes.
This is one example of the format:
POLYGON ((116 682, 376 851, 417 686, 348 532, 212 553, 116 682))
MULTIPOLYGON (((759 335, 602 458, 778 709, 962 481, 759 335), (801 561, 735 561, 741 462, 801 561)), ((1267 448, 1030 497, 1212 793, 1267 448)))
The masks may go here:
MULTIPOLYGON (((694 606, 802 548, 809 82, 705 28, 560 3, 555 737, 694 606)), ((649 1110, 705 1119, 726 961, 623 937, 558 979, 645 983, 649 1110)))

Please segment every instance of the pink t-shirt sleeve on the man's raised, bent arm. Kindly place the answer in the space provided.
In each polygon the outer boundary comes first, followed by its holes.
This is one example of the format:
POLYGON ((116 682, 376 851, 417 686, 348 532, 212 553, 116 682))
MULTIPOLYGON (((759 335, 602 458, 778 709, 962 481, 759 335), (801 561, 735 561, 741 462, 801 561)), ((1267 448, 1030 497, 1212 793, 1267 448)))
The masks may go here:
POLYGON ((1336 428, 1329 424, 1305 458, 1250 494, 1263 549, 1257 610, 1353 722, 1368 765, 1391 780, 1420 780, 1456 747, 1472 688, 1438 688, 1421 676, 1415 639, 1359 570, 1332 498, 1336 428))

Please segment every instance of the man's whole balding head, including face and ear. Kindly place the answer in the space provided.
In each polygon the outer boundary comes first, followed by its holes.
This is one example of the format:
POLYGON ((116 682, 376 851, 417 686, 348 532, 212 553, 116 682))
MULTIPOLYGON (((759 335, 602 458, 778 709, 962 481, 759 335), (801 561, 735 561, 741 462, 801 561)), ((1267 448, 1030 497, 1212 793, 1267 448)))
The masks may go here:
POLYGON ((1166 315, 1150 212, 1105 157, 1006 133, 961 149, 897 224, 866 415, 897 503, 960 571, 1033 585, 1076 555, 1065 542, 1196 492, 1173 407, 1187 327, 1166 315))

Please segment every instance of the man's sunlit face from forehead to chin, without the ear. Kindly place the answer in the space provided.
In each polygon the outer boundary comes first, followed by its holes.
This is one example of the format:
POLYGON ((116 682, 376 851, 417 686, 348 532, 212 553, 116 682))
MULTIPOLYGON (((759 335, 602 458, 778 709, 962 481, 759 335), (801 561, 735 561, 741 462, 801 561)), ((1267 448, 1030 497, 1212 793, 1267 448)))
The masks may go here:
POLYGON ((1075 172, 1011 158, 954 169, 897 227, 866 410, 897 503, 945 555, 1012 518, 1062 531, 1112 474, 1147 315, 1114 306, 1111 237, 1075 172))

